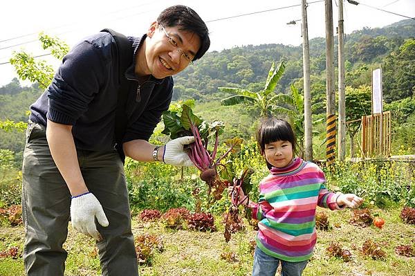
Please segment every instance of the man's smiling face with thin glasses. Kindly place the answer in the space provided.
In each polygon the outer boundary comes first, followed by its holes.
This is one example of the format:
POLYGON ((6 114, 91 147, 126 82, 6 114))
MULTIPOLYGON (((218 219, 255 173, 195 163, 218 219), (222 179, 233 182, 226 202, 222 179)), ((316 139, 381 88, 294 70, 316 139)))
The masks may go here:
POLYGON ((161 26, 157 22, 151 24, 147 36, 147 68, 143 69, 146 75, 158 79, 183 71, 201 46, 198 35, 178 30, 177 26, 161 26))

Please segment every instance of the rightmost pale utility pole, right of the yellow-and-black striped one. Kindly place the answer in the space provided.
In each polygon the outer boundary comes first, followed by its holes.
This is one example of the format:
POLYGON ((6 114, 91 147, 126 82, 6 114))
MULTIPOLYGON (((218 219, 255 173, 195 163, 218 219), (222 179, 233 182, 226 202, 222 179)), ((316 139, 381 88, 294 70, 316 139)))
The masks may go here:
POLYGON ((346 156, 346 96, 344 92, 344 26, 343 0, 339 0, 338 56, 339 56, 339 137, 338 158, 344 161, 346 156))

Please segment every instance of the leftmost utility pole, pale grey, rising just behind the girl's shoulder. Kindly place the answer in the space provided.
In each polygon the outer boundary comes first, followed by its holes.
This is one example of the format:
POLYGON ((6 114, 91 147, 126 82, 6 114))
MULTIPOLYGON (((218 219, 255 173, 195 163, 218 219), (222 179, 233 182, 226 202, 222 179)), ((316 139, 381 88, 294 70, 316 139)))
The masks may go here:
POLYGON ((310 50, 308 48, 307 3, 302 0, 303 74, 304 74, 304 149, 305 160, 313 160, 313 129, 311 125, 310 50))

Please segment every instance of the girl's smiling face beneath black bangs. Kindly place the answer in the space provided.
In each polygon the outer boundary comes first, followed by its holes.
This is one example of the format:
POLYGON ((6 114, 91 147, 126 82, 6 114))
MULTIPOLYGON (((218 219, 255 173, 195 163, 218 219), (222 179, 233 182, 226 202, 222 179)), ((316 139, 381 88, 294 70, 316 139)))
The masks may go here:
POLYGON ((265 158, 273 167, 286 167, 293 160, 293 145, 288 141, 265 144, 265 158))

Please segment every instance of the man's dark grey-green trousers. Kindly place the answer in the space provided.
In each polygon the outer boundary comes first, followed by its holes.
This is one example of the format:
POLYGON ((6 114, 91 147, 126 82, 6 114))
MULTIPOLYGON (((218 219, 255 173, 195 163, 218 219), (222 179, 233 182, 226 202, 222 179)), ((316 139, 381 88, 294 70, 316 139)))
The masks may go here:
MULTIPOLYGON (((109 220, 106 228, 96 223, 103 238, 96 243, 102 275, 138 275, 124 167, 117 151, 78 150, 77 157, 86 186, 109 220)), ((62 245, 68 234, 71 194, 50 156, 42 125, 29 123, 22 172, 26 273, 64 275, 68 253, 62 245)))

